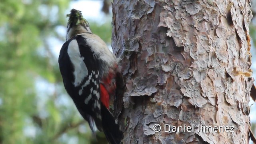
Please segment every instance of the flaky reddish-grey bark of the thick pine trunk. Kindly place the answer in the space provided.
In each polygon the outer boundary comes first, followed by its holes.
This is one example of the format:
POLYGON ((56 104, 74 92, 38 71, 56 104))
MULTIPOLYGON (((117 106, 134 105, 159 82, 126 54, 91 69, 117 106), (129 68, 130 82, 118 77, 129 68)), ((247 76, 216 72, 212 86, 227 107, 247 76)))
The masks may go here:
POLYGON ((124 144, 247 144, 251 18, 248 0, 114 0, 112 47, 130 51, 124 144))

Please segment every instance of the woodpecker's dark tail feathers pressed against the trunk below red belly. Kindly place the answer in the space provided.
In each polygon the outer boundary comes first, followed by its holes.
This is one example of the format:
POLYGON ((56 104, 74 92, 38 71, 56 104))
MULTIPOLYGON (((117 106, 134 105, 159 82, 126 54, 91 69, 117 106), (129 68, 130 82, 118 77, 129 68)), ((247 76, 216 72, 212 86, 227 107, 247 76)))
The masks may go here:
POLYGON ((114 116, 110 111, 102 104, 102 129, 110 144, 120 144, 123 139, 123 133, 119 128, 118 122, 116 122, 114 116))

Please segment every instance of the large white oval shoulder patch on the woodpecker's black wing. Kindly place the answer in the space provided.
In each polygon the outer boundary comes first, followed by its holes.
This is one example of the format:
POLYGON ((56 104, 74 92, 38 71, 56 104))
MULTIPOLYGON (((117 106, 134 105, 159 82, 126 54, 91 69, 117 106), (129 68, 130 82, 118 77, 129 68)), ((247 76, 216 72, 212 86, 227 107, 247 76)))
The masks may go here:
POLYGON ((79 86, 86 76, 88 76, 88 69, 84 63, 84 57, 81 57, 78 43, 72 40, 68 44, 68 56, 74 66, 74 86, 79 86))

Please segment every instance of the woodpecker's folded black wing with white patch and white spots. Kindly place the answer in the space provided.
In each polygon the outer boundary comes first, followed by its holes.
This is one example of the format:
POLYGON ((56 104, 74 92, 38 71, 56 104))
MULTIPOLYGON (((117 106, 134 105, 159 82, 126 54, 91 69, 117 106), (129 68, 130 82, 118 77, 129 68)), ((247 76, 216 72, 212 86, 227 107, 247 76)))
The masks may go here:
POLYGON ((89 122, 92 131, 92 118, 98 129, 102 128, 100 82, 97 61, 93 55, 85 38, 75 36, 63 44, 58 60, 64 87, 80 114, 89 122))

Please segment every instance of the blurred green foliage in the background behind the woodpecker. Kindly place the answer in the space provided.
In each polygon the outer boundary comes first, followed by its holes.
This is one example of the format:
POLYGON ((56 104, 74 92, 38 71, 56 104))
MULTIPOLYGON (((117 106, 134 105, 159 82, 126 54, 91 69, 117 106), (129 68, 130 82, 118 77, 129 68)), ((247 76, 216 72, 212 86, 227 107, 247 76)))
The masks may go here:
MULTIPOLYGON (((69 0, 0 2, 0 144, 88 144, 94 139, 63 88, 49 40, 64 43, 57 29, 66 26, 68 5, 69 0)), ((110 44, 110 22, 90 26, 110 44)))

